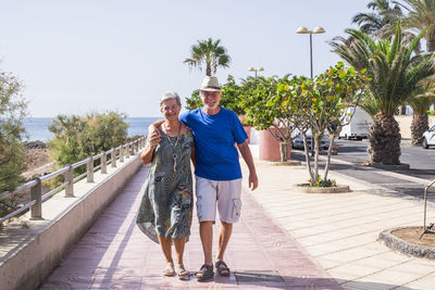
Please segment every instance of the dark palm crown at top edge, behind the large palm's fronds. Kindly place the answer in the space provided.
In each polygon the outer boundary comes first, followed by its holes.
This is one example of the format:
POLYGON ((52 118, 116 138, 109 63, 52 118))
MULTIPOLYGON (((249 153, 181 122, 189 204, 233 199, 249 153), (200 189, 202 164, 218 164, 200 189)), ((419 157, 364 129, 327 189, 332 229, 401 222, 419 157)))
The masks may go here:
POLYGON ((358 13, 353 16, 352 23, 360 26, 365 34, 376 34, 385 26, 394 25, 402 16, 399 5, 390 7, 389 0, 374 0, 369 2, 368 9, 373 12, 358 13))

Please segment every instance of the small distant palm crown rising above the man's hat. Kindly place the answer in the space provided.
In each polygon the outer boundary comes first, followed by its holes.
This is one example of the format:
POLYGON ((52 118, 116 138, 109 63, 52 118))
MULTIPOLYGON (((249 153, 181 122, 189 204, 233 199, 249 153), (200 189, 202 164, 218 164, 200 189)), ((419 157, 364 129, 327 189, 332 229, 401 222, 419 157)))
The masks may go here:
POLYGON ((187 63, 190 68, 198 67, 202 71, 202 66, 206 64, 206 75, 216 74, 219 66, 228 67, 231 58, 226 53, 226 49, 220 46, 221 39, 213 41, 209 38, 208 40, 198 40, 198 43, 191 46, 190 59, 186 59, 184 63, 187 63))

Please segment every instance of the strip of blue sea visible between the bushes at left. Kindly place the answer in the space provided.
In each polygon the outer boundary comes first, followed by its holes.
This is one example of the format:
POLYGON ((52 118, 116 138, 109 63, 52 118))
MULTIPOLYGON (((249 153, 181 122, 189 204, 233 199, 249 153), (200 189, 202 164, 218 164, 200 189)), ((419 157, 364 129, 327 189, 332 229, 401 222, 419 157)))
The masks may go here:
MULTIPOLYGON (((128 137, 136 135, 146 135, 148 126, 162 117, 127 117, 126 123, 129 124, 128 137)), ((48 127, 51 125, 53 117, 28 117, 24 119, 24 127, 27 133, 27 141, 47 142, 53 138, 53 134, 48 127)))

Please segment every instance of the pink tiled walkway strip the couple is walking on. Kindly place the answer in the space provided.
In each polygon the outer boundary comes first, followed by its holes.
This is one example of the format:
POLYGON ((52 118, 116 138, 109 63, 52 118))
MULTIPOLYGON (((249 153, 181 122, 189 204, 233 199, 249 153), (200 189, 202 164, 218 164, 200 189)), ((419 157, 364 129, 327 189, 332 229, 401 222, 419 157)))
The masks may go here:
MULTIPOLYGON (((234 226, 225 257, 234 270, 231 277, 202 283, 163 277, 160 247, 135 224, 146 173, 144 166, 40 289, 340 289, 246 192, 243 217, 234 226)), ((202 264, 198 224, 194 220, 185 252, 185 266, 190 272, 202 264)), ((214 232, 217 230, 215 226, 214 232)), ((214 240, 215 245, 216 237, 214 240)))

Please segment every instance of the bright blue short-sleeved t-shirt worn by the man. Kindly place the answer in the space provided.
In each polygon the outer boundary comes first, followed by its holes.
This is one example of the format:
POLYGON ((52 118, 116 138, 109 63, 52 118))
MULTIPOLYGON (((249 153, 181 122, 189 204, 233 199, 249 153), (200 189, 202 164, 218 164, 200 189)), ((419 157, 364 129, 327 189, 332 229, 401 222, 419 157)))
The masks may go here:
POLYGON ((248 139, 236 113, 221 108, 215 115, 201 109, 191 110, 179 116, 194 133, 197 164, 195 174, 211 180, 241 178, 238 152, 235 143, 248 139))

